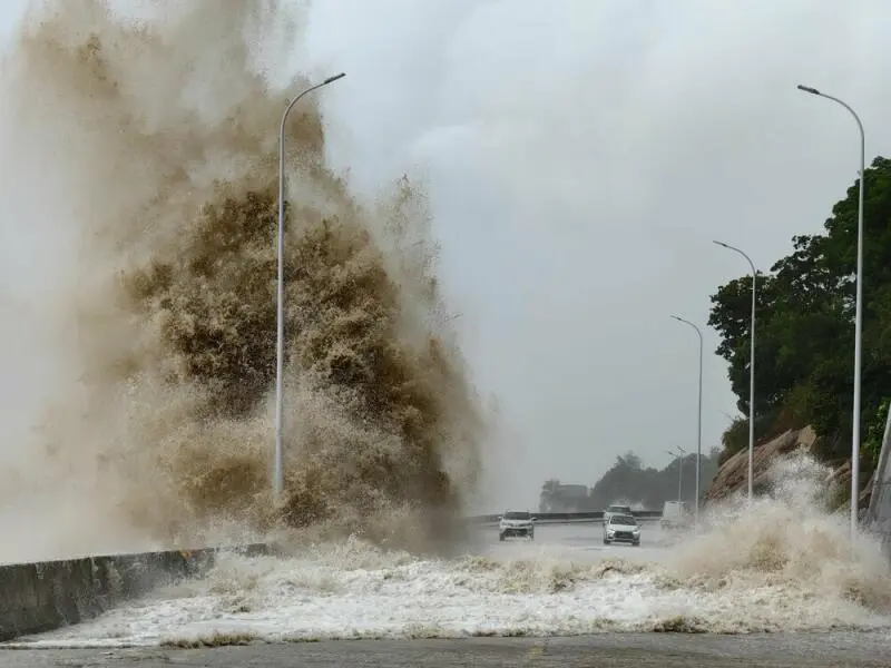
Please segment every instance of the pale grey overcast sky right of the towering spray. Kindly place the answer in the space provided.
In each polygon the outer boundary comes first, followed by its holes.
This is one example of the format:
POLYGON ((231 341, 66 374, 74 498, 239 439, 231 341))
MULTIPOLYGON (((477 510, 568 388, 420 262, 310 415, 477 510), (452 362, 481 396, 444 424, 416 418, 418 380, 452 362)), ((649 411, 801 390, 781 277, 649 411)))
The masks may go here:
MULTIPOLYGON (((13 11, 2 8, 11 29, 13 11)), ((888 0, 315 0, 295 63, 331 159, 370 193, 423 177, 474 382, 503 419, 480 508, 663 466, 735 414, 708 296, 820 232, 891 153, 888 0), (856 10, 856 11, 855 11, 856 10)), ((866 222, 869 225, 869 220, 866 222)))

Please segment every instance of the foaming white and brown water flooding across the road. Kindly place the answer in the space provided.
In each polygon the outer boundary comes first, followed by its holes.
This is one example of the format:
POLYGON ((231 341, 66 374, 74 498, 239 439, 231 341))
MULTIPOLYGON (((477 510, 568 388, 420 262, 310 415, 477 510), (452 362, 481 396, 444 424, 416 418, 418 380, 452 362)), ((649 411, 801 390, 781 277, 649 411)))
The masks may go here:
POLYGON ((877 539, 852 547, 845 519, 824 511, 828 473, 807 456, 777 462, 772 498, 709 509, 697 536, 645 524, 642 548, 601 548, 597 524, 542 524, 516 543, 483 529, 450 559, 304 540, 33 642, 889 630, 891 568, 877 539))

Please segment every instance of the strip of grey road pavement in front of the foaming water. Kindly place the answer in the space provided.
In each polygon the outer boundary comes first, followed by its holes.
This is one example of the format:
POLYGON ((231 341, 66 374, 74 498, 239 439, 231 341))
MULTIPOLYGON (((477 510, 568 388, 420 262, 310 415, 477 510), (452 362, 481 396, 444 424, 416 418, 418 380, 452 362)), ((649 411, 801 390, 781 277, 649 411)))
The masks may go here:
POLYGON ((207 649, 4 650, 4 668, 888 667, 888 633, 341 640, 207 649))

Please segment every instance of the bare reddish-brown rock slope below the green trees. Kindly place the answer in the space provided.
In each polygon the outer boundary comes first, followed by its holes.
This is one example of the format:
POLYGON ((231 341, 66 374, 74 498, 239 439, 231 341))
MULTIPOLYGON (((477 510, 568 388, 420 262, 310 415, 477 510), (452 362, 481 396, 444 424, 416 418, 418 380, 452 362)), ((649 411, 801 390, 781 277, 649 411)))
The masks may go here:
MULTIPOLYGON (((754 456, 754 492, 763 493, 767 490, 767 470, 771 462, 777 456, 803 450, 812 452, 817 443, 817 435, 811 426, 800 430, 790 430, 780 434, 775 439, 755 446, 754 456)), ((869 507, 870 494, 872 492, 872 478, 860 494, 859 507, 869 507)), ((843 489, 849 489, 851 484, 851 462, 846 461, 835 468, 826 479, 826 484, 836 484, 843 489)), ((725 499, 736 492, 745 493, 748 487, 748 450, 742 450, 724 462, 718 469, 712 484, 706 492, 704 504, 713 503, 725 499)), ((840 499, 841 501, 841 499, 840 499)))

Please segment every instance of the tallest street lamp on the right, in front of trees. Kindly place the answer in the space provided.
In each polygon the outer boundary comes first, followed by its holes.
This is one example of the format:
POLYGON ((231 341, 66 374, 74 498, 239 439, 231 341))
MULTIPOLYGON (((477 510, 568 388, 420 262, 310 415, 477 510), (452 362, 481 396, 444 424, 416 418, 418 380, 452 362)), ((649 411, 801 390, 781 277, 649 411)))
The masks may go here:
POLYGON ((856 306, 854 307, 854 424, 851 435, 851 541, 856 538, 858 492, 860 491, 860 367, 861 334, 863 332, 863 179, 866 177, 866 137, 860 117, 846 102, 820 92, 816 88, 797 86, 799 90, 838 102, 851 112, 860 129, 860 202, 856 212, 856 306))

